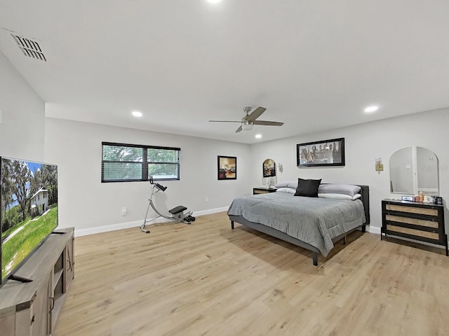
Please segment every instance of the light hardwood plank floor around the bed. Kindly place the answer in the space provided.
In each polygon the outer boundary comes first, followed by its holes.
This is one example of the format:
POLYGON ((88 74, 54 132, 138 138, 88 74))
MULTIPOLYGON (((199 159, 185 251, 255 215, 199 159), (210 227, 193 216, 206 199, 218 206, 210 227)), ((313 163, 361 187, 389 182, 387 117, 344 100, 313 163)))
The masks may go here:
POLYGON ((149 228, 75 239, 54 335, 449 335, 442 252, 354 232, 314 267, 225 213, 149 228))

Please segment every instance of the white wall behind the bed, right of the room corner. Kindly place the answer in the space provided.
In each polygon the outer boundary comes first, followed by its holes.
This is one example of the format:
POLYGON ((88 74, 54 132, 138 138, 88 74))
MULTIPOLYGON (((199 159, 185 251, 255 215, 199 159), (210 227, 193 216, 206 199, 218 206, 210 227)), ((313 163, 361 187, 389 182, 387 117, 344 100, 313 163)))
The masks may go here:
MULTIPOLYGON (((380 120, 327 132, 268 141, 251 146, 253 186, 262 184, 262 162, 271 158, 283 165, 277 180, 323 179, 325 183, 354 183, 370 186, 371 225, 382 226, 381 200, 401 195, 389 193, 389 158, 399 148, 421 146, 433 151, 439 160, 439 187, 449 199, 449 109, 380 120), (296 144, 344 137, 344 167, 302 167, 296 165, 296 144), (375 158, 382 158, 384 172, 375 172, 375 158)), ((372 228, 373 229, 373 228, 372 228)), ((380 232, 373 229, 374 232, 380 232)))

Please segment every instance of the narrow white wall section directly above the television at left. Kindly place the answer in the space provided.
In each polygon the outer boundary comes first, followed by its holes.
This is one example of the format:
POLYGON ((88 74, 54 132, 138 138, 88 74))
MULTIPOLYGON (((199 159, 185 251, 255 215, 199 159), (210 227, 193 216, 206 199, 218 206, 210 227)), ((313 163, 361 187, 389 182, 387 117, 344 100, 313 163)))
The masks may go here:
POLYGON ((43 161, 45 103, 0 52, 0 156, 43 161))

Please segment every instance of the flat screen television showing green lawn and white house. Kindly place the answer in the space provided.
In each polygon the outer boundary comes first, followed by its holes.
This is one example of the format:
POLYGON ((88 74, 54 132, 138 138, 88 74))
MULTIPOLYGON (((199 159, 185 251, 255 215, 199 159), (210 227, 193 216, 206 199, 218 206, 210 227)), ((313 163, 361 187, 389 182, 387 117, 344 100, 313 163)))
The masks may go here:
POLYGON ((58 167, 0 157, 0 286, 58 226, 58 167))

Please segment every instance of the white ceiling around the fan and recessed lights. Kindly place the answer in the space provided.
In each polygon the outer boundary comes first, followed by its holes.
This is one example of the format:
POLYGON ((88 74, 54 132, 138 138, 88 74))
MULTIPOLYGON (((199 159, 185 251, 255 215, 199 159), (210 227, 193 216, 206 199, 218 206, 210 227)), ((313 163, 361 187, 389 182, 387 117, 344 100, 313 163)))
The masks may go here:
POLYGON ((448 13, 448 0, 0 0, 0 50, 46 116, 252 144, 449 106, 448 13), (208 123, 245 106, 285 124, 208 123))

